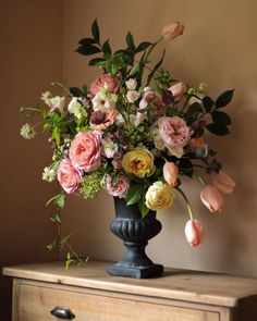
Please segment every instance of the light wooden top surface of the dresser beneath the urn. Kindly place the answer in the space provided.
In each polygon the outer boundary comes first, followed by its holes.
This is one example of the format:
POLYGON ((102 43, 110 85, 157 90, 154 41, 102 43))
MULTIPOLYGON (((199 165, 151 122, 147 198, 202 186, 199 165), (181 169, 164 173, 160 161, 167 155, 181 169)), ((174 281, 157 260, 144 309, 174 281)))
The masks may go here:
POLYGON ((257 305, 257 279, 167 268, 157 279, 110 276, 111 262, 88 261, 71 267, 63 262, 3 268, 3 274, 35 281, 159 297, 198 304, 234 307, 241 301, 257 305))

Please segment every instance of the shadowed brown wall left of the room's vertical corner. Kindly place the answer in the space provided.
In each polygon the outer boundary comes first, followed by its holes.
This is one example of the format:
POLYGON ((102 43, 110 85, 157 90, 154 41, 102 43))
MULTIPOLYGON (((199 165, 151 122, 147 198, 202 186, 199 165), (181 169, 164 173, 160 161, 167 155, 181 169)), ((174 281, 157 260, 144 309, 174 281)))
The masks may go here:
MULTIPOLYGON (((19 109, 32 107, 62 77, 62 1, 0 1, 1 223, 0 269, 51 260, 54 237, 46 200, 54 186, 41 181, 50 152, 42 137, 24 140, 19 109)), ((11 280, 0 276, 0 319, 11 320, 11 280)))

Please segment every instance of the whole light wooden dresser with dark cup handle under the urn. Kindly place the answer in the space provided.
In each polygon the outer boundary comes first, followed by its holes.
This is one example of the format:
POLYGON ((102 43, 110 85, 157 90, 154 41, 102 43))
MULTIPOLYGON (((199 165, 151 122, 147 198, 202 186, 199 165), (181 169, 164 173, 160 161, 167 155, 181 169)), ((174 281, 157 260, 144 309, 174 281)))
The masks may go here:
POLYGON ((166 269, 162 277, 135 280, 109 276, 109 264, 4 268, 14 277, 12 320, 257 321, 255 279, 166 269))

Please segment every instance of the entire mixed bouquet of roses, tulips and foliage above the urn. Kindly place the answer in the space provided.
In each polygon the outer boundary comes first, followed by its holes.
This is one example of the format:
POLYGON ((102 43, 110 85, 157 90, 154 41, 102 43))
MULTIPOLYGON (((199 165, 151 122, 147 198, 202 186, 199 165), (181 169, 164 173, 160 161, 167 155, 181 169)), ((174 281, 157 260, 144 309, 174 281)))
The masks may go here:
MULTIPOLYGON (((215 100, 206 95, 205 83, 193 88, 176 81, 161 67, 164 51, 152 66, 150 53, 155 47, 183 30, 182 23, 171 23, 157 41, 139 45, 128 33, 126 47, 113 52, 109 39, 100 40, 95 20, 91 37, 79 40, 76 51, 96 55, 89 65, 99 67, 97 79, 83 88, 53 83, 63 96, 44 92, 44 107, 22 110, 28 116, 41 116, 39 124, 50 133, 52 163, 44 170, 45 181, 57 178, 66 194, 81 194, 85 199, 106 189, 125 198, 127 206, 138 203, 143 217, 149 210, 170 208, 179 193, 189 214, 186 239, 197 246, 203 240, 203 226, 193 215, 181 177, 196 178, 204 185, 200 199, 211 212, 223 209, 221 193, 232 193, 235 184, 221 171, 205 134, 229 134, 231 119, 223 108, 230 103, 233 90, 215 100)), ((33 138, 35 127, 26 123, 21 135, 33 138)), ((51 201, 63 208, 64 194, 51 201)), ((52 221, 60 223, 59 213, 52 221)), ((71 261, 71 252, 69 256, 71 261)))

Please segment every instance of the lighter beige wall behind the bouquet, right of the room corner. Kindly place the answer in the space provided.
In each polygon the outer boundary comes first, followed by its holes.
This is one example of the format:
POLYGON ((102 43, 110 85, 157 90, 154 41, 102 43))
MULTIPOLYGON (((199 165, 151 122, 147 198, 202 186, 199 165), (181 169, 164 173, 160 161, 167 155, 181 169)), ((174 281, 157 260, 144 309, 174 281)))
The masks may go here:
MULTIPOLYGON (((163 231, 148 247, 151 258, 167 266, 257 276, 256 11, 254 0, 64 1, 63 74, 70 84, 91 82, 98 72, 87 67, 87 58, 74 52, 78 39, 89 34, 93 20, 98 17, 103 38, 110 37, 117 48, 124 45, 127 30, 137 41, 155 40, 164 24, 184 22, 183 37, 167 44, 164 67, 192 85, 207 82, 213 97, 235 88, 235 99, 228 109, 233 118, 232 135, 210 138, 210 143, 219 149, 219 159, 237 188, 225 197, 224 212, 215 215, 199 201, 200 186, 187 182, 186 190, 205 225, 205 243, 192 249, 185 242, 187 214, 178 196, 171 210, 158 214, 163 231)), ((109 196, 102 194, 93 201, 71 197, 64 225, 66 231, 77 231, 74 245, 83 255, 119 259, 123 247, 108 230, 112 218, 109 196)))

